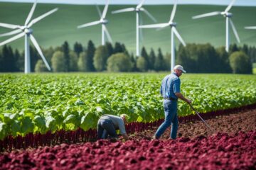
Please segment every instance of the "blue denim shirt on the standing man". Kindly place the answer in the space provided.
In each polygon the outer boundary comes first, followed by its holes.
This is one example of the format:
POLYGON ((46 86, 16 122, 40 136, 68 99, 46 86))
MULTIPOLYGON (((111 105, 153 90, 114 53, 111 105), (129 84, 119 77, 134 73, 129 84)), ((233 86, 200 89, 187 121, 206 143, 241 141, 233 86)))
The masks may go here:
POLYGON ((173 72, 162 80, 160 93, 163 98, 175 98, 178 97, 175 93, 181 92, 181 80, 177 77, 177 75, 173 72))

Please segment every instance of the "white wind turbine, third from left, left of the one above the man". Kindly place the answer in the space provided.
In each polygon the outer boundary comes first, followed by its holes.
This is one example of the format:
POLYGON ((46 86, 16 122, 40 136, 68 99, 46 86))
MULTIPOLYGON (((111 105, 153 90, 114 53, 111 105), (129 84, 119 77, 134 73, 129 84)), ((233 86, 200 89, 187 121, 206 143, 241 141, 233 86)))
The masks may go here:
POLYGON ((142 5, 145 0, 142 0, 139 5, 137 5, 135 8, 124 8, 119 9, 117 11, 112 11, 112 13, 123 13, 123 12, 130 12, 130 11, 136 11, 136 55, 139 56, 139 12, 144 11, 149 18, 151 18, 152 21, 156 23, 156 19, 154 16, 152 16, 149 11, 146 11, 145 8, 142 8, 142 5))

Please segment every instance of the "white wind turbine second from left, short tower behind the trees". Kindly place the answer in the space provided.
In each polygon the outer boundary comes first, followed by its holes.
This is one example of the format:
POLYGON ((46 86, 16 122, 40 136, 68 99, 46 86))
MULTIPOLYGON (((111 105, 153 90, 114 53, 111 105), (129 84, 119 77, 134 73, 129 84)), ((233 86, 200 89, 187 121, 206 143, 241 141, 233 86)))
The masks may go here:
POLYGON ((79 29, 79 28, 85 28, 85 27, 88 27, 88 26, 95 26, 95 25, 101 23, 102 24, 102 45, 105 45, 105 33, 107 35, 107 39, 110 40, 110 42, 112 42, 112 38, 110 37, 110 33, 108 32, 107 27, 105 26, 108 23, 108 21, 105 17, 107 15, 107 8, 109 6, 109 3, 110 3, 110 1, 107 0, 107 4, 105 5, 103 13, 101 13, 100 8, 98 6, 96 6, 97 11, 100 15, 100 20, 99 21, 94 21, 94 22, 91 22, 91 23, 85 23, 85 24, 82 24, 82 25, 78 26, 78 29, 79 29))

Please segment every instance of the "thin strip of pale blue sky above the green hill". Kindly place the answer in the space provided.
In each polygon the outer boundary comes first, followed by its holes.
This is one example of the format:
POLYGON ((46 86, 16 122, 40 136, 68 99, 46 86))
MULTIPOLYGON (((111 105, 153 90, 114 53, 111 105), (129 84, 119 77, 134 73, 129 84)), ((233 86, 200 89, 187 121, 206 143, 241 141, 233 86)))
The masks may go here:
MULTIPOLYGON (((30 2, 34 0, 0 0, 7 2, 30 2)), ((110 4, 139 4, 141 0, 110 0, 110 4)), ((179 0, 178 4, 213 4, 226 6, 231 0, 179 0)), ((105 4, 105 0, 38 0, 38 3, 49 4, 105 4)), ((145 0, 145 5, 173 4, 174 0, 145 0)), ((234 6, 256 6, 256 0, 236 0, 234 6)))

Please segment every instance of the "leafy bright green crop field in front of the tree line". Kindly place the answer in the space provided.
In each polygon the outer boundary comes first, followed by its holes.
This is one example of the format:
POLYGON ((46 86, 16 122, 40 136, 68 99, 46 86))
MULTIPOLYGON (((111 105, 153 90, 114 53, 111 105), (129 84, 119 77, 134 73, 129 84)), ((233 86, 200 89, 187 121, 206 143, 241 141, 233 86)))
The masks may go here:
MULTIPOLYGON (((164 117, 159 74, 0 74, 0 139, 48 130, 96 128, 103 114, 127 113, 130 122, 164 117)), ((181 92, 201 113, 256 103, 256 77, 184 74, 181 92)), ((191 115, 178 103, 178 115, 191 115)))

